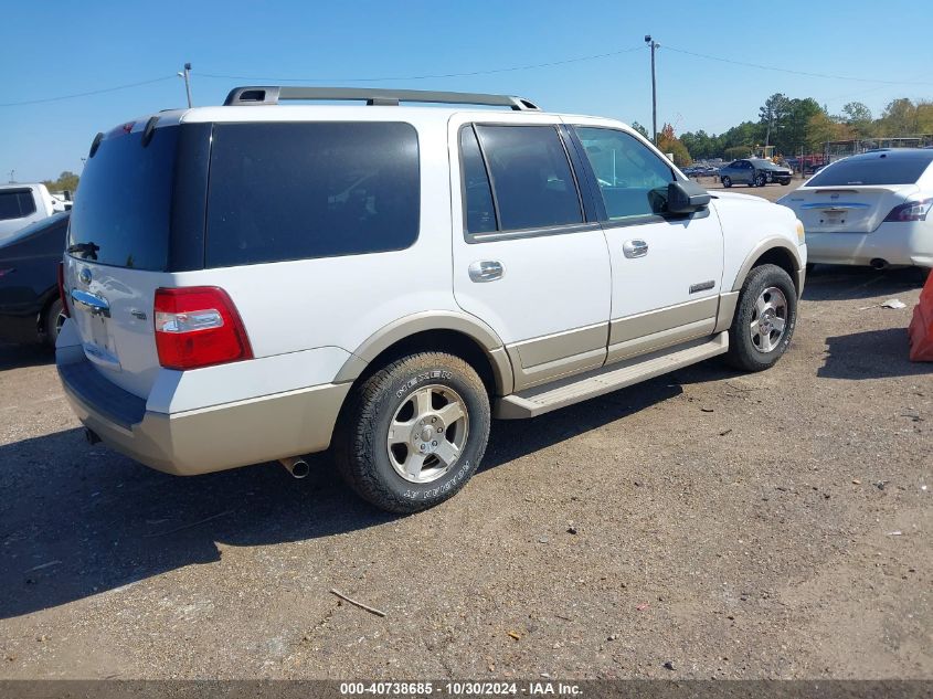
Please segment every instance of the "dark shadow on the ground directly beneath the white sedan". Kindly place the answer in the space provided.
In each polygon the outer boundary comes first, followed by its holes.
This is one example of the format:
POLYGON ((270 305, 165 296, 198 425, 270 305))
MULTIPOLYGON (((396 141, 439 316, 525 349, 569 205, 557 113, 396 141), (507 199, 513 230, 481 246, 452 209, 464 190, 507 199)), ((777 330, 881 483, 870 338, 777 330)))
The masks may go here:
POLYGON ((812 272, 807 273, 804 300, 893 297, 923 287, 927 273, 927 269, 920 267, 872 269, 871 267, 816 265, 812 272))

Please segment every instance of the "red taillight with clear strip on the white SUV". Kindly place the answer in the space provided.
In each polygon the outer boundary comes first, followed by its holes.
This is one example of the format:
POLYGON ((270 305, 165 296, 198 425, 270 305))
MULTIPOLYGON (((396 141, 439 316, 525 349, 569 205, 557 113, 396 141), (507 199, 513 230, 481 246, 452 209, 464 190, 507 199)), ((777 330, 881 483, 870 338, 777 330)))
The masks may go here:
POLYGON ((156 349, 166 369, 253 359, 236 307, 215 286, 156 289, 156 349))

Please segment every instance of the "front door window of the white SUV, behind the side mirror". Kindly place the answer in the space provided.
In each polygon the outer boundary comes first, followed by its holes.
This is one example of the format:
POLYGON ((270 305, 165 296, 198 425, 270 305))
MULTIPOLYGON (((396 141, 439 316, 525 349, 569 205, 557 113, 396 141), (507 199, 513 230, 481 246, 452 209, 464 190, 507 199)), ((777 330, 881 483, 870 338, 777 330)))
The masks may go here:
POLYGON ((651 215, 674 181, 674 170, 634 136, 607 128, 575 127, 611 221, 651 215), (660 190, 660 191, 658 191, 660 190))

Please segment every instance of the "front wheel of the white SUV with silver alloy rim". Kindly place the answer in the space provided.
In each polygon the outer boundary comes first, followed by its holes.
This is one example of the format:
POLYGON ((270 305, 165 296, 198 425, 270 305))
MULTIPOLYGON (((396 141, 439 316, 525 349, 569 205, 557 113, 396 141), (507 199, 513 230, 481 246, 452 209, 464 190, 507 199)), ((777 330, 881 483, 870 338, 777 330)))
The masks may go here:
POLYGON ((776 265, 754 267, 739 293, 727 360, 744 371, 770 369, 787 350, 796 325, 797 289, 791 276, 776 265))

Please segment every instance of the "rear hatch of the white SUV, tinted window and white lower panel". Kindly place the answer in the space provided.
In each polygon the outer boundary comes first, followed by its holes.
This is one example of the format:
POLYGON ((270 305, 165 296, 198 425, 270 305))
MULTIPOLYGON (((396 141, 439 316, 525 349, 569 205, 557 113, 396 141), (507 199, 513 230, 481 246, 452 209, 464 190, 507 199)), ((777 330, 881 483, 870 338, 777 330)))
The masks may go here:
POLYGON ((159 371, 155 293, 171 286, 169 271, 198 266, 197 253, 185 262, 183 248, 203 250, 206 181, 206 158, 179 155, 192 140, 184 130, 198 127, 173 119, 146 134, 146 125, 118 127, 92 148, 65 255, 65 287, 85 356, 105 378, 140 398, 148 396, 159 371), (177 192, 185 190, 181 201, 177 192), (200 201, 200 223, 191 201, 200 201), (191 230, 180 231, 185 219, 191 230))

